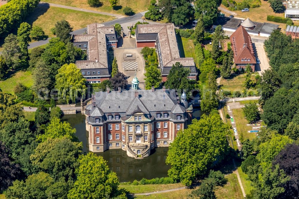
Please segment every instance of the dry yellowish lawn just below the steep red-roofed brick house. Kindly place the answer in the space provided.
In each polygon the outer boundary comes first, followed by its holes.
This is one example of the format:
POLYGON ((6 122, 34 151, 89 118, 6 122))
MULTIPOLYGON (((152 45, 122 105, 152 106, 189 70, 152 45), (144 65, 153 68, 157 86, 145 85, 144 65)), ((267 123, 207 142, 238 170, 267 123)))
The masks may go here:
MULTIPOLYGON (((254 83, 256 82, 254 75, 251 76, 251 80, 253 80, 254 83)), ((231 75, 229 79, 221 78, 220 86, 224 91, 240 91, 242 93, 243 89, 245 88, 243 87, 244 81, 245 75, 231 75)), ((248 91, 256 92, 255 89, 249 89, 248 91)))

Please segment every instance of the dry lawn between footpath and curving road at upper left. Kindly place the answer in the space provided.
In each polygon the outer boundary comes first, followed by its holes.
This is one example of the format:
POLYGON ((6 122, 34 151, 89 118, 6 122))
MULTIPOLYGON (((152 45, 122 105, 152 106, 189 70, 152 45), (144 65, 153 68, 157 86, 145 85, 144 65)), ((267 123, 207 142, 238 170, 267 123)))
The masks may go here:
MULTIPOLYGON (((84 1, 85 2, 85 1, 84 1)), ((106 22, 115 19, 113 16, 101 15, 96 13, 87 13, 77 10, 70 10, 60 7, 42 7, 40 6, 37 11, 30 14, 25 20, 33 26, 40 26, 45 32, 45 35, 53 37, 51 28, 54 27, 57 21, 65 19, 68 21, 74 30, 86 27, 87 24, 94 22, 106 22)))

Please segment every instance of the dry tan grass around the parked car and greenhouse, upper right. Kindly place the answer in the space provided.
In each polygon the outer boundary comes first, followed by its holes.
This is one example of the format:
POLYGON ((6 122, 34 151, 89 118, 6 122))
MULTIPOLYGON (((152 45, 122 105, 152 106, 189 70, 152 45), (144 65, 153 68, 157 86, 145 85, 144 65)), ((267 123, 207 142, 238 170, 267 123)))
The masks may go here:
MULTIPOLYGON (((242 13, 241 10, 235 10, 232 12, 237 13, 237 15, 235 15, 236 17, 240 17, 240 18, 244 18, 244 19, 249 18, 254 22, 268 22, 267 15, 284 17, 284 12, 283 13, 274 13, 273 9, 270 7, 270 4, 268 1, 261 1, 261 3, 262 4, 260 7, 249 8, 249 12, 242 13)), ((221 7, 228 9, 223 5, 221 5, 221 7)), ((223 12, 223 11, 221 11, 221 12, 223 12)), ((228 16, 230 15, 229 13, 226 13, 226 14, 228 16)), ((286 29, 286 24, 281 24, 281 23, 276 23, 276 22, 269 22, 269 23, 278 24, 280 28, 286 29)), ((299 22, 294 22, 294 24, 299 25, 299 22)))

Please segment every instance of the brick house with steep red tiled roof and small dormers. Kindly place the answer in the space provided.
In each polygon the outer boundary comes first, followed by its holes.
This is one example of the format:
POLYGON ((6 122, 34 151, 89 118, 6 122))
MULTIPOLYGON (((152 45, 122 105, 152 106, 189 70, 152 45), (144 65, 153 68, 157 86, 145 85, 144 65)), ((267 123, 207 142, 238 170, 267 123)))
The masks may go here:
POLYGON ((251 37, 240 25, 238 29, 231 35, 231 49, 234 52, 234 63, 236 68, 242 70, 249 64, 252 71, 255 70, 255 64, 257 63, 254 49, 251 41, 251 37))

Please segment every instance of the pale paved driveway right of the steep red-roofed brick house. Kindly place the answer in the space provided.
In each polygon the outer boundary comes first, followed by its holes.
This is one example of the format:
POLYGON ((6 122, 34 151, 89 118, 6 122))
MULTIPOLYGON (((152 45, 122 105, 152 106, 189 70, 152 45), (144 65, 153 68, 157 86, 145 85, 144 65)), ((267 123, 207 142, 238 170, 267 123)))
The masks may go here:
POLYGON ((266 55, 263 43, 256 42, 253 43, 253 46, 254 46, 255 57, 259 58, 261 62, 260 64, 257 64, 255 66, 255 71, 258 71, 259 74, 262 74, 262 72, 270 68, 269 59, 266 55))

